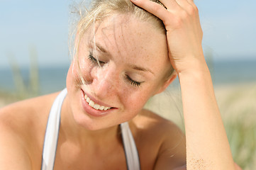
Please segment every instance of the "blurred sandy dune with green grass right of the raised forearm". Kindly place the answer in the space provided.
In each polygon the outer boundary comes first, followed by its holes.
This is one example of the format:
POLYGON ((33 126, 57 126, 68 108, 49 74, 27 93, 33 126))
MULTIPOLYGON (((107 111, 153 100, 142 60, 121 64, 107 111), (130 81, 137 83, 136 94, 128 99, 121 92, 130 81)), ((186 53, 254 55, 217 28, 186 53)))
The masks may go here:
POLYGON ((255 169, 256 83, 219 87, 216 97, 235 162, 255 169))

